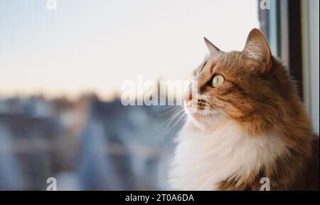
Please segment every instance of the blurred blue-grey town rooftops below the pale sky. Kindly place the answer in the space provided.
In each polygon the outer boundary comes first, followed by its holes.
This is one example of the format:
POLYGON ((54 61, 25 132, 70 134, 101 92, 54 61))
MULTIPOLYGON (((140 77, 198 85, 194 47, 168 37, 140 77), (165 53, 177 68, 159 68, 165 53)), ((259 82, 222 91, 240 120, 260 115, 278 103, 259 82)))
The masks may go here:
POLYGON ((48 177, 58 190, 169 189, 172 141, 183 124, 174 108, 96 95, 0 99, 0 190, 46 190, 48 177))

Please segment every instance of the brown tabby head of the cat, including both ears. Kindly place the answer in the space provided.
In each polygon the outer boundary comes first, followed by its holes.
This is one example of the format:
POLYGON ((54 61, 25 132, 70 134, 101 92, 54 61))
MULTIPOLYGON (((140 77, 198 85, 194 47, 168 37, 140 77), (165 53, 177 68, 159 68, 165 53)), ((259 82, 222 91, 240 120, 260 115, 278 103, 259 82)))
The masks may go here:
POLYGON ((194 86, 184 95, 184 106, 194 122, 210 125, 219 117, 243 120, 277 96, 276 85, 269 80, 272 54, 258 29, 250 31, 240 52, 225 53, 205 41, 210 55, 195 72, 197 96, 194 86))

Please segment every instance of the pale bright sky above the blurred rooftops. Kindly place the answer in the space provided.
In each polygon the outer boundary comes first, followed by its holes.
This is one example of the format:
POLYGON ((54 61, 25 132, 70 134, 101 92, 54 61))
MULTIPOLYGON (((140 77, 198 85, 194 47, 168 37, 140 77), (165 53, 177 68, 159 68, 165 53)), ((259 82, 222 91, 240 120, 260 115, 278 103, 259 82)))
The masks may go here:
POLYGON ((95 92, 124 80, 190 80, 206 36, 240 51, 256 0, 0 0, 0 97, 95 92))

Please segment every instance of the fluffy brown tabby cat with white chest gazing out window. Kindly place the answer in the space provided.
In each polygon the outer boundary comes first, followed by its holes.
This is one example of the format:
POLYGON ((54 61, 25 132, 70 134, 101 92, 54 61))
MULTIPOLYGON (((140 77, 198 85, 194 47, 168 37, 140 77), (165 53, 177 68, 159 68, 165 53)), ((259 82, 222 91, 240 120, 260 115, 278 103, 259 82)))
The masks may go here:
POLYGON ((262 32, 252 29, 240 52, 205 41, 197 98, 191 87, 184 95, 172 189, 260 190, 265 179, 267 190, 319 189, 319 137, 262 32))

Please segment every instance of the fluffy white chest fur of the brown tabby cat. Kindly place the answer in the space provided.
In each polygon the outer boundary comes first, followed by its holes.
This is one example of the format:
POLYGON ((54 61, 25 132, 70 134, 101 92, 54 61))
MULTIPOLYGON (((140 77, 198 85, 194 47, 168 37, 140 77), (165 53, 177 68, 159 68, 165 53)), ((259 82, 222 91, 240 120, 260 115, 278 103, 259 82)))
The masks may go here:
POLYGON ((235 122, 224 124, 208 133, 183 127, 169 174, 172 189, 215 190, 224 179, 245 179, 285 151, 275 134, 249 136, 235 122))

